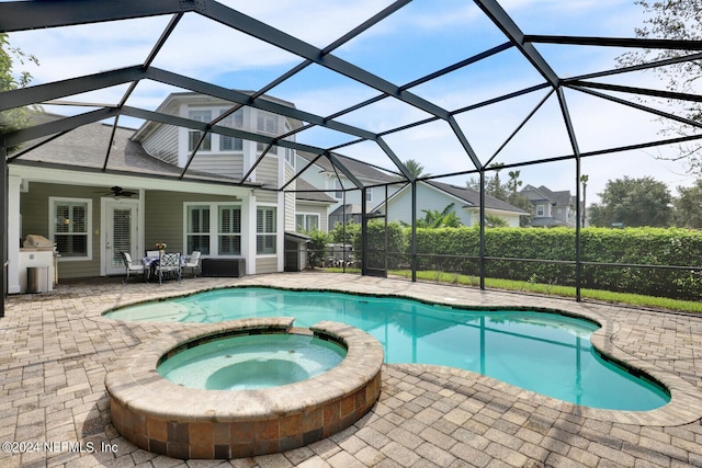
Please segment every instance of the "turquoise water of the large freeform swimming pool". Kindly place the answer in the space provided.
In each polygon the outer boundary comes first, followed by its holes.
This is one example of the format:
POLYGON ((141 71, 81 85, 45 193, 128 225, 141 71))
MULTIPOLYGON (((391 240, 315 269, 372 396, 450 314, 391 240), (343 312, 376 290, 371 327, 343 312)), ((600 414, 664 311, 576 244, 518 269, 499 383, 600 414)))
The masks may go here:
POLYGON ((147 303, 107 317, 161 322, 294 317, 296 327, 333 320, 375 336, 387 363, 458 367, 592 408, 645 411, 670 401, 663 388, 592 349, 590 335, 597 324, 557 313, 464 310, 388 297, 241 287, 147 303))

